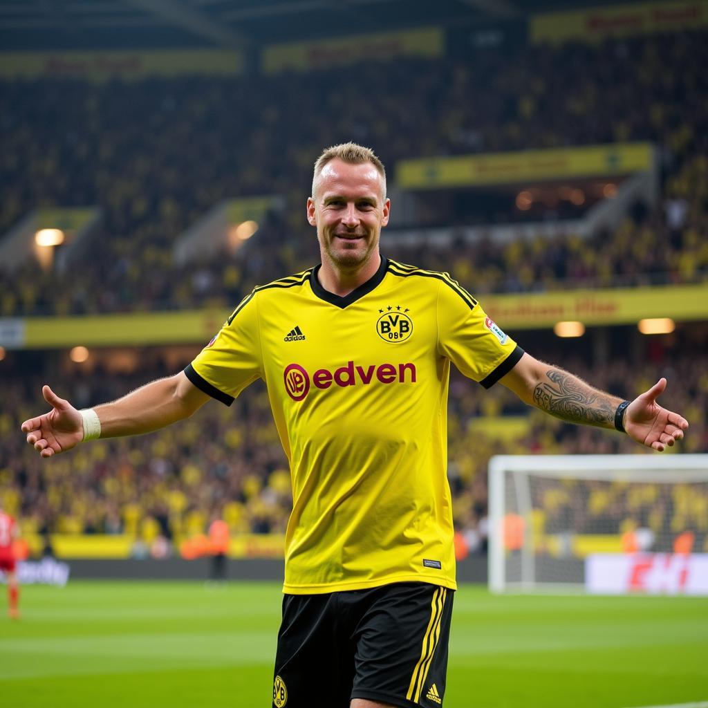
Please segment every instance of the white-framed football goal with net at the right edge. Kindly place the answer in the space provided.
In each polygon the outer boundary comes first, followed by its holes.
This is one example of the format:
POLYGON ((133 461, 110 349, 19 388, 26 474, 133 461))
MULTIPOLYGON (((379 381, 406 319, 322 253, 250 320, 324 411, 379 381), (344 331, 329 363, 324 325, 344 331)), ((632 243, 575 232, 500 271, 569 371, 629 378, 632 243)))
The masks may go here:
POLYGON ((708 455, 493 457, 489 587, 708 594, 708 455))

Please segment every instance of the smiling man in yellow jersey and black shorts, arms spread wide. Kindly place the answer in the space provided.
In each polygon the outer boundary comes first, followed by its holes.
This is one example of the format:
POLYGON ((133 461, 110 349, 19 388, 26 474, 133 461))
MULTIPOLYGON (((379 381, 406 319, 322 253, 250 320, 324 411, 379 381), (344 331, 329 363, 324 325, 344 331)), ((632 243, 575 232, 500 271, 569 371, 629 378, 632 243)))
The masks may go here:
POLYGON ((390 207, 370 149, 327 149, 307 200, 319 265, 256 287, 183 372, 84 411, 45 386, 52 410, 22 425, 51 457, 156 430, 209 398, 230 405, 265 380, 293 491, 275 708, 442 705, 456 588, 451 364, 654 450, 688 426, 656 403, 666 379, 632 402, 593 389, 525 353, 447 273, 382 256, 390 207))

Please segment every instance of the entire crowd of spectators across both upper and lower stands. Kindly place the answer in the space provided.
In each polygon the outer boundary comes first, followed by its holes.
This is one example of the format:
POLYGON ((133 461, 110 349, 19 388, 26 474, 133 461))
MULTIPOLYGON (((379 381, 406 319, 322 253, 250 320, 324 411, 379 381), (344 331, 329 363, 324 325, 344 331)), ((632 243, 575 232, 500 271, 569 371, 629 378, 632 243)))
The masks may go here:
MULTIPOLYGON (((0 316, 232 307, 253 285, 318 261, 304 194, 322 147, 348 139, 375 147, 391 184, 399 159, 648 140, 658 147, 661 197, 637 205, 612 234, 508 244, 458 239, 438 248, 387 246, 384 232, 382 251, 450 271, 475 295, 705 280, 707 38, 695 30, 596 46, 505 45, 464 58, 307 76, 2 81, 0 232, 38 205, 100 205, 103 230, 101 243, 67 273, 41 273, 33 263, 10 273, 0 264, 0 316), (219 200, 259 194, 282 195, 286 207, 237 256, 176 264, 176 237, 200 215, 219 200)), ((495 218, 521 217, 512 209, 495 218)), ((461 217, 438 213, 427 225, 436 223, 455 227, 461 217)), ((589 357, 529 349, 626 396, 649 387, 661 370, 671 406, 691 421, 681 450, 708 450, 704 343, 679 341, 646 365, 627 355, 602 367, 589 357)), ((15 366, 7 377, 3 372, 0 489, 25 534, 125 533, 147 544, 179 544, 203 532, 215 513, 232 532, 285 529, 290 478, 258 384, 231 409, 210 404, 174 428, 94 442, 41 462, 25 450, 17 425, 41 404, 46 377, 15 366)), ((169 373, 74 370, 62 374, 57 392, 88 406, 169 373)), ((460 530, 484 526, 493 454, 638 451, 621 435, 528 413, 503 387, 486 393, 452 378, 449 476, 460 530)), ((563 502, 555 503, 549 514, 561 515, 563 502)))

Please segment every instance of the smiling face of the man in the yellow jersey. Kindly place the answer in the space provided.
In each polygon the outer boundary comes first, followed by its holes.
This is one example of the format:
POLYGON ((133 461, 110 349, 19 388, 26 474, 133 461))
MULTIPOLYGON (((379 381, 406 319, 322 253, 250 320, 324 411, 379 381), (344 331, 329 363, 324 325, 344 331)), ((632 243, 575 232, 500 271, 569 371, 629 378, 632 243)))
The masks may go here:
POLYGON ((334 159, 324 166, 307 200, 307 220, 317 227, 323 261, 355 270, 378 253, 391 204, 384 189, 370 162, 351 165, 334 159))

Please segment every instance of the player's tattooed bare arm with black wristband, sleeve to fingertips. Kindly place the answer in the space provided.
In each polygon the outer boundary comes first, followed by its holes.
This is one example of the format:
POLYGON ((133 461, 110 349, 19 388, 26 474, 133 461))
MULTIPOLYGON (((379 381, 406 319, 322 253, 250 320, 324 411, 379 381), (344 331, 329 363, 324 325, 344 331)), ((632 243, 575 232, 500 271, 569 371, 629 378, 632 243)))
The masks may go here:
MULTIPOLYGON (((524 354, 501 382, 530 406, 569 423, 615 428, 615 413, 622 399, 594 389, 569 372, 524 354)), ((622 413, 622 426, 632 440, 663 452, 683 439, 685 418, 656 403, 666 389, 659 379, 637 396, 622 413)))

